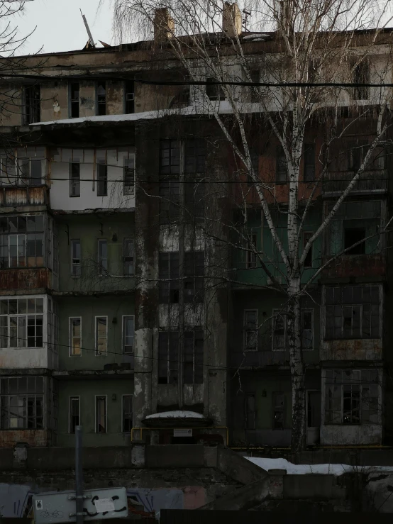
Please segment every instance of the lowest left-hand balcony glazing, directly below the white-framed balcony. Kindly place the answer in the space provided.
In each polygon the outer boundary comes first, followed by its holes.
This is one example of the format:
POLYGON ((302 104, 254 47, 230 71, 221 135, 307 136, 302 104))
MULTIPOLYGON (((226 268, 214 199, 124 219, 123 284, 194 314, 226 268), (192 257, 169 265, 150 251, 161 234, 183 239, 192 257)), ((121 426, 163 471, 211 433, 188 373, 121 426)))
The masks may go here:
POLYGON ((44 428, 44 378, 0 379, 0 428, 42 430, 44 428))

